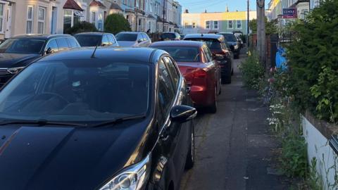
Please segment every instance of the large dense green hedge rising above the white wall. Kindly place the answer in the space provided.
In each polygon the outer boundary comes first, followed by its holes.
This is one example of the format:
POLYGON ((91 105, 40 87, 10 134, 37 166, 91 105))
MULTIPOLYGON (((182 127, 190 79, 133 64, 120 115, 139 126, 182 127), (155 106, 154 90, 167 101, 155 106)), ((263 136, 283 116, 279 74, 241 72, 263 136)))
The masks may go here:
POLYGON ((287 50, 290 93, 303 109, 331 122, 338 118, 338 1, 323 1, 294 25, 287 50))

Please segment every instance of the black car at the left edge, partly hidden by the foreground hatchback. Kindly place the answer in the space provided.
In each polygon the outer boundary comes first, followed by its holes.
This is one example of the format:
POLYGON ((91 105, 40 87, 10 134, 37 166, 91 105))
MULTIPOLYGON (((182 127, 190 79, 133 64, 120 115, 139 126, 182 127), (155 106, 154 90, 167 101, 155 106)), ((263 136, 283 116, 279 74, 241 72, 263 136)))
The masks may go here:
POLYGON ((36 58, 56 51, 80 47, 68 34, 25 34, 0 44, 0 86, 36 58))

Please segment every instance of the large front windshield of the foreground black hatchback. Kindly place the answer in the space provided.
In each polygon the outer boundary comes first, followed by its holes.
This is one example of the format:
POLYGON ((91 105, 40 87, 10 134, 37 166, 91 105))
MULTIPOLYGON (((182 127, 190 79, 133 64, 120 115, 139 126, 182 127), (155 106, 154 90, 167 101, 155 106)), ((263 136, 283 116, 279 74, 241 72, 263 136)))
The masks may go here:
POLYGON ((144 114, 150 73, 146 63, 35 63, 2 89, 0 120, 97 122, 144 114))

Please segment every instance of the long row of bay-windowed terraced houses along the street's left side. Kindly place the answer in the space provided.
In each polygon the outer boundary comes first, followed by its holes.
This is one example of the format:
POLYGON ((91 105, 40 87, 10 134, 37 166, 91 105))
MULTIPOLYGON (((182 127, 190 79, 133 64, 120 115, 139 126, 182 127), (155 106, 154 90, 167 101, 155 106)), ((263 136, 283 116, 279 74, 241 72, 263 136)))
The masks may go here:
POLYGON ((133 31, 178 31, 181 12, 173 0, 0 0, 0 39, 62 34, 80 21, 103 31, 104 20, 112 13, 123 14, 133 31))

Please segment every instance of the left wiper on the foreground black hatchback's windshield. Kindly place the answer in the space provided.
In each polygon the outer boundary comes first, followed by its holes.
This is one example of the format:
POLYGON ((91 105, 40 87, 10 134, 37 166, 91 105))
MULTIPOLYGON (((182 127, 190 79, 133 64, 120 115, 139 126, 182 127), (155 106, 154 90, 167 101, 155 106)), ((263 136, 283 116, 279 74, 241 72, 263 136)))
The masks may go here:
POLYGON ((10 124, 36 124, 39 126, 43 125, 68 125, 68 126, 77 126, 77 127, 87 127, 87 124, 81 124, 76 122, 54 122, 48 120, 4 120, 0 122, 0 125, 10 125, 10 124))

